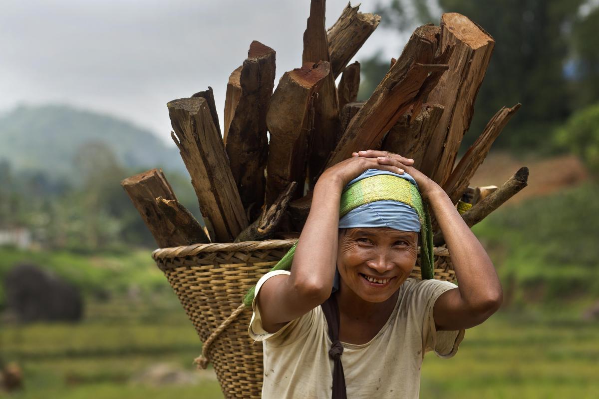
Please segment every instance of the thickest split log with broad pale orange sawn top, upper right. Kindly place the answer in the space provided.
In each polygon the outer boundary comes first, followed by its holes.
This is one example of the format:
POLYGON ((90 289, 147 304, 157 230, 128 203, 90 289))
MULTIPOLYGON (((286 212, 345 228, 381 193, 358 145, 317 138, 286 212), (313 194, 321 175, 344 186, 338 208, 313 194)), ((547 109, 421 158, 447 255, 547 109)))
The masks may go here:
POLYGON ((449 71, 428 96, 445 107, 426 150, 422 172, 443 186, 452 172, 464 133, 470 127, 474 101, 495 41, 482 28, 458 13, 441 16, 440 49, 453 45, 449 71))

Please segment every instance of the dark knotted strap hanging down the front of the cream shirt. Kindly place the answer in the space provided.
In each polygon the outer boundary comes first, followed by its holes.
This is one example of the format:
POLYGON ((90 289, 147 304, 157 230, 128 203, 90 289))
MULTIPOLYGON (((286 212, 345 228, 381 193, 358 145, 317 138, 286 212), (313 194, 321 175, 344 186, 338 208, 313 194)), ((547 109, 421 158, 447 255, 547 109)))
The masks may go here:
POLYGON ((345 374, 343 374, 343 364, 341 364, 343 346, 339 340, 339 307, 335 295, 331 294, 320 307, 322 307, 322 312, 325 313, 326 324, 329 326, 329 338, 332 342, 331 349, 329 349, 329 357, 334 361, 332 399, 347 399, 345 374))

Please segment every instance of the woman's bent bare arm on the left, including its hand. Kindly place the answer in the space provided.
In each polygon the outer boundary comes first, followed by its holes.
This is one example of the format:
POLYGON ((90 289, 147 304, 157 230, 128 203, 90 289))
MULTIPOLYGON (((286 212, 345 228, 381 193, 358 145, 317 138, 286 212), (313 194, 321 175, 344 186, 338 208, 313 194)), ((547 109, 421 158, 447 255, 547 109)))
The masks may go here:
MULTIPOLYGON (((404 159, 404 162, 410 164, 404 159)), ((403 173, 376 159, 354 156, 328 168, 314 186, 310 213, 299 235, 291 274, 268 279, 258 294, 262 327, 274 333, 322 304, 331 295, 343 188, 364 171, 375 168, 403 173)))

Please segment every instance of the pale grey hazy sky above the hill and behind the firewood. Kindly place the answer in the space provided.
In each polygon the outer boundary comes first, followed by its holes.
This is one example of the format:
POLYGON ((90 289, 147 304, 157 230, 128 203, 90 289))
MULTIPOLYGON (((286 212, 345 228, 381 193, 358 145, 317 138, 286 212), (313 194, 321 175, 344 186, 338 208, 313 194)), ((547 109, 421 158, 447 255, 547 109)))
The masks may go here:
MULTIPOLYGON (((326 2, 327 28, 346 5, 326 2)), ((211 86, 222 120, 226 82, 252 40, 276 50, 276 81, 301 66, 309 11, 309 0, 2 0, 0 111, 61 102, 125 117, 172 144, 167 101, 211 86)), ((397 57, 406 40, 379 27, 356 59, 379 49, 397 57)))

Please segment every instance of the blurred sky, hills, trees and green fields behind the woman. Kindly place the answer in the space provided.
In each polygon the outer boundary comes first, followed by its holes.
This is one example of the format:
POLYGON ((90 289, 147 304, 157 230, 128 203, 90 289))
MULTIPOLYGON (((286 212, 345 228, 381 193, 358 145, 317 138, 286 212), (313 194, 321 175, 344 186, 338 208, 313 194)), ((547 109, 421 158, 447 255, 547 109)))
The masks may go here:
MULTIPOLYGON (((327 26, 345 0, 326 4, 327 26)), ((199 217, 167 101, 214 89, 252 40, 301 65, 309 1, 2 1, 0 397, 218 398, 201 346, 119 182, 162 167, 199 217), (10 393, 8 392, 10 391, 10 393)), ((503 308, 458 355, 427 355, 422 397, 599 397, 599 1, 377 0, 356 55, 367 99, 414 28, 456 11, 496 41, 462 152, 522 108, 472 185, 529 186, 473 230, 503 308)), ((351 61, 353 62, 353 61, 351 61)), ((221 120, 222 125, 222 120, 221 120)))

